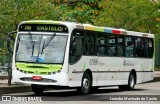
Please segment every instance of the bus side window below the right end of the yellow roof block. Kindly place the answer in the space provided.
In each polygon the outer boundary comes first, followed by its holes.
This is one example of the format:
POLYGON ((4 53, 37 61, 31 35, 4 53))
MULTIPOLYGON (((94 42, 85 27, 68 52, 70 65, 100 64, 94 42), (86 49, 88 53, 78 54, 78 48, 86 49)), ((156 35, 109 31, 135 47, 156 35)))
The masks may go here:
POLYGON ((106 55, 106 42, 105 42, 105 34, 98 33, 97 34, 97 55, 104 56, 106 55))

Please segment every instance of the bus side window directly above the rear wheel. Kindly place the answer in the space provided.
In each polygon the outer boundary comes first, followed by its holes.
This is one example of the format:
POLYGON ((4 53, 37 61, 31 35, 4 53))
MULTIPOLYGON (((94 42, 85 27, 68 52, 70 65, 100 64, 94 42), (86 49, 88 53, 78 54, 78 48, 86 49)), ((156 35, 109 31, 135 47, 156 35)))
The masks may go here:
POLYGON ((134 57, 134 37, 126 37, 126 57, 134 57))

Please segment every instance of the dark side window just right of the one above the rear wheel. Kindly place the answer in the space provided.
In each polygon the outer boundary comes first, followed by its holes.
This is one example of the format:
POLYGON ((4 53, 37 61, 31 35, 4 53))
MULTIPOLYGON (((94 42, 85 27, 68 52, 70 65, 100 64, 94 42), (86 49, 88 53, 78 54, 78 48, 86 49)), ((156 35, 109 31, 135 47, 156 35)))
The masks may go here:
POLYGON ((135 39, 135 57, 144 57, 144 39, 137 37, 135 39))

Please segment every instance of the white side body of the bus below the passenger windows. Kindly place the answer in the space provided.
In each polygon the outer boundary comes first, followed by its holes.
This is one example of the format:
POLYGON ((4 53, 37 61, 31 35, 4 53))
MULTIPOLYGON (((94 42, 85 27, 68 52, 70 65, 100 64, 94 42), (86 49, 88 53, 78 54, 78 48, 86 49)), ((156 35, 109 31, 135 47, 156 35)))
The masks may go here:
MULTIPOLYGON (((93 31, 90 31, 91 33, 93 31)), ((96 33, 96 32, 95 32, 96 33)), ((100 32, 97 32, 98 34, 100 32)), ((86 34, 86 33, 84 33, 86 34)), ((102 33, 103 34, 103 33, 102 33)), ((142 38, 142 33, 128 32, 124 37, 142 38)), ((107 34, 106 34, 107 35, 107 34)), ((115 35, 115 34, 114 34, 115 35)), ((116 35, 115 35, 116 36, 116 35)), ((85 37, 86 38, 86 37, 85 37)), ((151 39, 153 36, 143 37, 151 39)), ((85 46, 85 45, 83 45, 85 46)), ((154 49, 154 43, 152 43, 154 49)), ((86 48, 83 47, 85 50, 86 48)), ((154 51, 154 50, 153 50, 154 51)), ((154 56, 153 56, 154 57, 154 56)), ((129 75, 134 72, 136 83, 153 80, 154 58, 152 56, 106 56, 106 55, 84 55, 75 62, 69 64, 69 76, 72 76, 73 86, 79 87, 82 84, 82 77, 85 72, 90 74, 92 86, 127 85, 129 75)))

